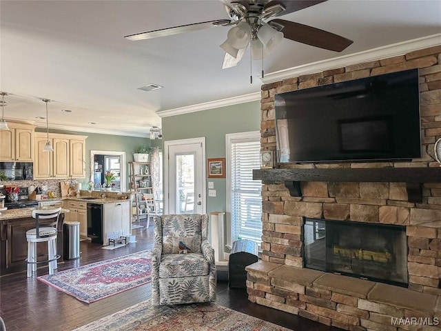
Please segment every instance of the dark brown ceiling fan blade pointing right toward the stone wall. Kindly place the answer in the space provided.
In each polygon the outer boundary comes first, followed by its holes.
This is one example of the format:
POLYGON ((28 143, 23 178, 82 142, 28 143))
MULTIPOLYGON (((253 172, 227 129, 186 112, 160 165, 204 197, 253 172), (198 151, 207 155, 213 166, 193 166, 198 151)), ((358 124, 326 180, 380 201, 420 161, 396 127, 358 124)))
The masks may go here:
POLYGON ((341 52, 345 50, 353 41, 341 37, 338 34, 313 28, 312 26, 305 26, 304 24, 285 21, 284 19, 273 19, 269 21, 269 25, 277 30, 283 26, 283 37, 298 41, 299 43, 306 43, 307 45, 316 46, 318 48, 325 48, 325 50, 334 50, 341 52))

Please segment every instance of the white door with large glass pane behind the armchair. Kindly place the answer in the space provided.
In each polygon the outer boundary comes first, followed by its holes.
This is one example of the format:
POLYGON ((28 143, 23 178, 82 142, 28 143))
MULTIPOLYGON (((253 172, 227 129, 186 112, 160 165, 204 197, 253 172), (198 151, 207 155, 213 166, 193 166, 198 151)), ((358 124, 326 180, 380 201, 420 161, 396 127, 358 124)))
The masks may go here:
POLYGON ((165 141, 165 214, 205 214, 205 138, 165 141))

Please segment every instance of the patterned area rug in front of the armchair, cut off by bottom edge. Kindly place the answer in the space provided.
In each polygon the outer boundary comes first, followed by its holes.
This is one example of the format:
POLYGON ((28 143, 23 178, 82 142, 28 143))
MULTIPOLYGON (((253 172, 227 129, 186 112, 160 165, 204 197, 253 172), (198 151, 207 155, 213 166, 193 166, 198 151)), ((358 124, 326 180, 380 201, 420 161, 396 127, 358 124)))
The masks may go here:
POLYGON ((152 306, 150 300, 74 331, 289 331, 214 303, 152 306))

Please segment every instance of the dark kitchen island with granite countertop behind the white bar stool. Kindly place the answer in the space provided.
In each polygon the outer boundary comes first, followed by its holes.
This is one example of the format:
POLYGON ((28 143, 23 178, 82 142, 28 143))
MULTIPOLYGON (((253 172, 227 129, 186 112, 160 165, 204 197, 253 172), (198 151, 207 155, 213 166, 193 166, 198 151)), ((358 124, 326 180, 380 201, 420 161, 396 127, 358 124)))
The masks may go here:
MULTIPOLYGON (((48 208, 20 208, 3 210, 0 214, 0 276, 26 270, 25 259, 28 256, 26 231, 35 228, 32 210, 48 208)), ((57 235, 57 254, 63 261, 63 221, 69 210, 62 209, 59 217, 57 235)), ((47 243, 37 243, 39 261, 47 259, 47 243), (46 256, 44 256, 46 254, 46 256)), ((42 263, 43 265, 43 263, 42 263)), ((23 275, 25 277, 25 275, 23 275)))

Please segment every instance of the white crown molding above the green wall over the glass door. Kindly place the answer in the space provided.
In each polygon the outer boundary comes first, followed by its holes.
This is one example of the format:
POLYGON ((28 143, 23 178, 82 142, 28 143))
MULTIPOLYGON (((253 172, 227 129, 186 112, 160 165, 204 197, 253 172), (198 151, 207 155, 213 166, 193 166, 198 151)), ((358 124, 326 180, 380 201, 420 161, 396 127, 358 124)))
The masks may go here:
POLYGON ((201 110, 208 110, 213 108, 220 108, 225 106, 237 105, 239 103, 245 103, 250 101, 257 101, 261 99, 260 92, 254 92, 249 94, 240 95, 238 97, 232 97, 228 99, 220 99, 216 101, 209 101, 205 103, 198 103, 192 106, 185 106, 181 108, 174 108, 170 110, 162 110, 161 112, 156 112, 159 117, 170 117, 181 114, 188 114, 189 112, 200 112, 201 110))

